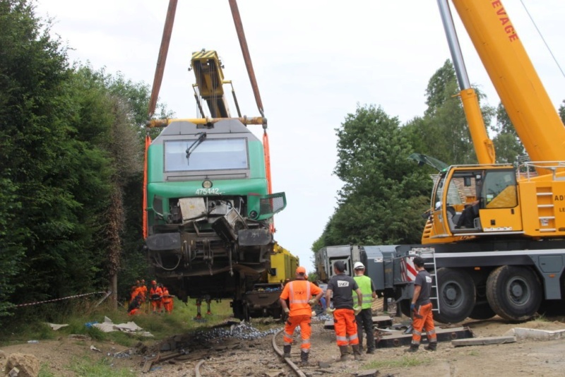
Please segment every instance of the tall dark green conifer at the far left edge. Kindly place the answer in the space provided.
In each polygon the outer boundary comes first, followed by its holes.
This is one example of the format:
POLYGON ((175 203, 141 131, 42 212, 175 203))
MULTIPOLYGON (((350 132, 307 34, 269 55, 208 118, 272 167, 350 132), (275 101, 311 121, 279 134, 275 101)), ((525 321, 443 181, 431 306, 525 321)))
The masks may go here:
POLYGON ((66 49, 50 24, 23 0, 0 0, 0 18, 0 176, 19 208, 3 233, 25 234, 13 245, 23 255, 6 282, 11 302, 85 292, 100 265, 96 215, 109 176, 107 155, 89 138, 103 130, 76 126, 66 49))

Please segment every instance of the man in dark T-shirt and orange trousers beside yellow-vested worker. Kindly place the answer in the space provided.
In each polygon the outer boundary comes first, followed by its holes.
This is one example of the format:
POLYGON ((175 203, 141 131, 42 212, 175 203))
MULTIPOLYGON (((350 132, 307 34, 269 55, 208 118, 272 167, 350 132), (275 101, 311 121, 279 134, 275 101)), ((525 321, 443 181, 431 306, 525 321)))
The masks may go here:
POLYGON ((336 261, 333 263, 333 275, 328 282, 326 289, 326 304, 328 309, 326 313, 333 313, 333 328, 335 329, 335 338, 340 347, 340 361, 346 361, 349 351, 348 345, 353 349, 355 360, 361 359, 359 352, 359 337, 357 336, 357 324, 355 316, 361 312, 362 292, 357 282, 345 275, 345 263, 336 261), (357 293, 357 309, 353 309, 353 292, 357 293), (329 306, 333 294, 333 309, 329 306))

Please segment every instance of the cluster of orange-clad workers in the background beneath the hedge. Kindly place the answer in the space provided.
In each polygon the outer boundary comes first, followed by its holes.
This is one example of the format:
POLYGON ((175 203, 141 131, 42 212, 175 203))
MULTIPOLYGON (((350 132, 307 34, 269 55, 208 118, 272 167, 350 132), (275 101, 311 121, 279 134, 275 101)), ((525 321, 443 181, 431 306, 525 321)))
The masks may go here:
POLYGON ((154 314, 160 314, 163 311, 172 313, 173 297, 169 294, 169 289, 161 283, 157 284, 155 280, 151 281, 150 289, 145 286, 145 280, 138 280, 136 285, 131 287, 131 294, 128 306, 128 313, 133 316, 138 313, 148 313, 149 305, 154 314), (145 310, 143 310, 144 308, 145 310))

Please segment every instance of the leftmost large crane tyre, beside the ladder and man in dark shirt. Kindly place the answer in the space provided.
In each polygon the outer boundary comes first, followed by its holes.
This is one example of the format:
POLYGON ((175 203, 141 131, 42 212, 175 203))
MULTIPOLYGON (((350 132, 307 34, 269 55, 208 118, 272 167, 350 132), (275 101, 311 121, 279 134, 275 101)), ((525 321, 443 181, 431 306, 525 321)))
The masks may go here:
MULTIPOLYGON (((439 313, 436 321, 457 323, 467 318, 475 307, 475 283, 468 273, 453 268, 437 270, 439 313)), ((432 296, 434 294, 432 288, 432 296)))

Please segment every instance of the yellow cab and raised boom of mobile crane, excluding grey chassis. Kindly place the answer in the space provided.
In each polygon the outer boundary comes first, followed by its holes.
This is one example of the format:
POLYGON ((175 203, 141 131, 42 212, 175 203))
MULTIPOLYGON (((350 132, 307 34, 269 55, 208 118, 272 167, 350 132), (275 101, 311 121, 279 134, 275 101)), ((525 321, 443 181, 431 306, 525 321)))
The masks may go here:
POLYGON ((530 156, 531 162, 519 169, 494 164, 492 142, 465 73, 447 1, 440 0, 439 5, 480 165, 454 166, 441 172, 422 243, 451 243, 493 235, 523 239, 564 237, 565 128, 504 6, 501 1, 453 1, 530 156), (530 174, 532 168, 537 170, 536 176, 530 174), (461 196, 456 193, 462 187, 475 188, 475 195, 457 201, 461 196), (473 226, 456 228, 465 202, 475 200, 479 203, 473 226))

